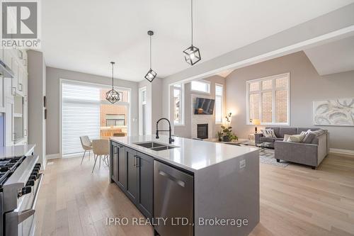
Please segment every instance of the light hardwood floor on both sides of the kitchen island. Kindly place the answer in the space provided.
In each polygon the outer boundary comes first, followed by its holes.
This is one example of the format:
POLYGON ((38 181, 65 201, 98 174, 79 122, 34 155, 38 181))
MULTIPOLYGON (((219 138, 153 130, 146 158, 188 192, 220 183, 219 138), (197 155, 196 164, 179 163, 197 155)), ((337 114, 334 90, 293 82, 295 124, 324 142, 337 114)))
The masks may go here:
MULTIPOLYGON (((93 158, 50 160, 37 203, 35 235, 153 235, 149 226, 108 226, 107 217, 142 217, 93 158)), ((330 154, 319 169, 261 164, 256 235, 354 235, 354 157, 330 154)))

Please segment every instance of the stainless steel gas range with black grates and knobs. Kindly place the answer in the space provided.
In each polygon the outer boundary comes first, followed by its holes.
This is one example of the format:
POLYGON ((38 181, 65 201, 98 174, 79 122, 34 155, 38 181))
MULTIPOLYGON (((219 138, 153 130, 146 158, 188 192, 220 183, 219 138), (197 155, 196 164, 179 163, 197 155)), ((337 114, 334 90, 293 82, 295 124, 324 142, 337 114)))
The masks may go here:
POLYGON ((0 159, 0 236, 33 235, 43 174, 38 156, 0 159))

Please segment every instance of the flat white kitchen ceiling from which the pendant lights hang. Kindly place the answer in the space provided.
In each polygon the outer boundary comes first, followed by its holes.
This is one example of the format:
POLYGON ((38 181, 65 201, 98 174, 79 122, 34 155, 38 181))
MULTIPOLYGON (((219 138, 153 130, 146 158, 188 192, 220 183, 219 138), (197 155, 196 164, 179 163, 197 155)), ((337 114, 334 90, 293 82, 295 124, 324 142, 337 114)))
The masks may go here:
MULTIPOLYGON (((47 66, 142 81, 149 69, 154 30, 153 69, 166 77, 189 65, 189 0, 45 0, 42 51, 47 66)), ((202 60, 261 40, 354 0, 195 0, 194 45, 202 60)))

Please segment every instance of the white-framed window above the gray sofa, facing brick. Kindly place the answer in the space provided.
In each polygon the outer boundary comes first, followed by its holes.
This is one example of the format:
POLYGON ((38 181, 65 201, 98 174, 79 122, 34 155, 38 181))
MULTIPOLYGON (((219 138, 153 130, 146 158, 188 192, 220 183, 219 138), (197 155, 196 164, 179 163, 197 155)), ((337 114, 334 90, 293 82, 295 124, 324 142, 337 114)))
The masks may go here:
POLYGON ((290 125, 290 74, 278 74, 246 82, 247 124, 260 119, 263 125, 290 125))

